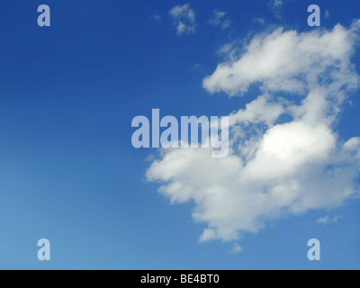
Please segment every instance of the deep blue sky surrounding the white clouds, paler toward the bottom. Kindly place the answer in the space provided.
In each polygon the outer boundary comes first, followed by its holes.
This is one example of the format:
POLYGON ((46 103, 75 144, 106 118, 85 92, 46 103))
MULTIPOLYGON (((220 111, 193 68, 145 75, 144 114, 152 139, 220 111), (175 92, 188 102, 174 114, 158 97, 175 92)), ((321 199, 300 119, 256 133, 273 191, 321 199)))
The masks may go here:
MULTIPOLYGON (((202 85, 224 61, 219 49, 241 49, 278 27, 319 29, 307 24, 309 4, 283 0, 275 11, 260 0, 2 3, 0 268, 359 269, 358 200, 199 243, 209 223, 193 220, 193 202, 169 204, 157 193, 160 184, 146 176, 157 150, 130 141, 131 120, 153 108, 175 117, 244 109, 261 87, 229 96, 202 85), (40 4, 49 4, 50 27, 37 25, 40 4), (194 30, 179 35, 169 11, 183 4, 195 14, 194 30), (211 24, 215 10, 227 13, 229 27, 211 24), (341 217, 319 224, 326 215, 341 217), (51 243, 48 262, 36 257, 40 238, 51 243), (307 259, 309 238, 320 239, 321 261, 307 259), (241 253, 231 252, 234 244, 241 253)), ((317 4, 322 29, 349 29, 360 17, 356 1, 317 4)), ((356 50, 357 73, 359 59, 356 50)), ((359 92, 347 95, 332 126, 344 142, 360 134, 359 92)))

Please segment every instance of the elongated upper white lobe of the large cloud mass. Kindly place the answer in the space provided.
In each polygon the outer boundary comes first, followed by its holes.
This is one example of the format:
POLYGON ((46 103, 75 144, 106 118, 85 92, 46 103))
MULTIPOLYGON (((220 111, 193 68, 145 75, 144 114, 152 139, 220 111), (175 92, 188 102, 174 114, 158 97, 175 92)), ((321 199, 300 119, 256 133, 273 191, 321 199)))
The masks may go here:
POLYGON ((266 91, 303 94, 310 85, 335 77, 339 78, 335 85, 342 82, 356 85, 357 76, 351 67, 338 67, 338 62, 347 64, 353 47, 351 35, 356 27, 355 24, 347 31, 337 25, 333 31, 307 33, 277 29, 269 35, 258 35, 237 61, 220 63, 204 79, 203 86, 210 93, 223 91, 234 95, 247 92, 252 84, 261 84, 266 91), (332 67, 338 69, 327 74, 326 79, 320 79, 332 67))

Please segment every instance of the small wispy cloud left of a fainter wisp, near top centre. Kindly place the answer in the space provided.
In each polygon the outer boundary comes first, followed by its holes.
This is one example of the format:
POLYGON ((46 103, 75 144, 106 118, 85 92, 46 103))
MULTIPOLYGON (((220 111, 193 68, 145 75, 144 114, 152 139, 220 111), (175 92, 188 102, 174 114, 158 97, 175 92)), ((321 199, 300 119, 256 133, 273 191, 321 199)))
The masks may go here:
POLYGON ((173 7, 169 14, 173 17, 177 35, 193 34, 195 32, 195 13, 190 4, 173 7))

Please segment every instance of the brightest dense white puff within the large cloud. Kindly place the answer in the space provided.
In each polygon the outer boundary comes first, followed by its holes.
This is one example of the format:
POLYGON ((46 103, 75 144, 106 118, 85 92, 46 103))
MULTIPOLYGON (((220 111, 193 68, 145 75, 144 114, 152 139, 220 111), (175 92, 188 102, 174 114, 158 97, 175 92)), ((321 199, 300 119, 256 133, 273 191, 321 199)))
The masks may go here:
POLYGON ((259 141, 244 174, 255 181, 292 176, 305 164, 326 160, 334 148, 335 136, 323 124, 299 120, 275 125, 259 141))

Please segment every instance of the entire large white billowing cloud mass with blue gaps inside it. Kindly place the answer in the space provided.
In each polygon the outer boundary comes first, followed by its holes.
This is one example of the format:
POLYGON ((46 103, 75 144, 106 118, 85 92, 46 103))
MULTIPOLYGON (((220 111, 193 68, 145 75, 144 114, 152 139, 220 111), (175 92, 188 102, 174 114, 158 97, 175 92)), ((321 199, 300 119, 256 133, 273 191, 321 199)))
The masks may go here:
MULTIPOLYGON (((166 149, 148 181, 172 203, 193 202, 200 242, 236 240, 286 215, 331 209, 358 196, 360 138, 340 139, 341 106, 359 85, 351 57, 360 21, 331 31, 255 36, 203 80, 210 93, 262 91, 229 114, 229 156, 166 149)), ((231 53, 231 49, 228 49, 231 53)))

